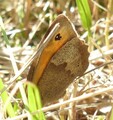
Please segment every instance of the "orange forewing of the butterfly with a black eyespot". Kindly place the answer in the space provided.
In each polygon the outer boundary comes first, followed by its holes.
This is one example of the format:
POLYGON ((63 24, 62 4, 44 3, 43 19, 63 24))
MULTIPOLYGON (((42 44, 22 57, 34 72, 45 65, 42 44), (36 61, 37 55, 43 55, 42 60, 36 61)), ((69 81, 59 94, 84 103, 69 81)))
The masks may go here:
POLYGON ((42 51, 39 61, 35 59, 32 67, 29 71, 30 81, 35 84, 38 84, 40 77, 42 76, 44 70, 46 69, 49 61, 52 56, 64 45, 67 41, 70 41, 72 38, 77 37, 77 33, 71 23, 71 21, 65 15, 59 15, 56 20, 52 23, 47 33, 45 34, 42 41, 45 40, 51 29, 55 24, 59 23, 60 28, 57 33, 51 38, 50 42, 42 51))

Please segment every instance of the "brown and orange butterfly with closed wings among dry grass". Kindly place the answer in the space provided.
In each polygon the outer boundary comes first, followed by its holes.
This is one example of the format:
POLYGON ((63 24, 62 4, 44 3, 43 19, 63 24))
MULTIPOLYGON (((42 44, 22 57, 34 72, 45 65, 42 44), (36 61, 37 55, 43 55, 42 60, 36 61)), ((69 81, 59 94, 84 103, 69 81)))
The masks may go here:
POLYGON ((88 46, 80 40, 74 25, 65 15, 59 15, 49 27, 42 41, 59 23, 57 33, 34 59, 27 79, 40 90, 43 105, 61 98, 66 88, 88 67, 88 46))

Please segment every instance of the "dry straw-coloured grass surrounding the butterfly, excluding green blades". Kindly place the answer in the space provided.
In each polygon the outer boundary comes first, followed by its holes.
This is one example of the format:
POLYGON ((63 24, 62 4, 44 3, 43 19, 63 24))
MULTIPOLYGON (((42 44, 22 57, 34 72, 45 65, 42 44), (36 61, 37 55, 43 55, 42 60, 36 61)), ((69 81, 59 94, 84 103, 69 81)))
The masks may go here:
MULTIPOLYGON (((64 97, 67 101, 61 100, 42 109, 47 119, 113 119, 110 118, 113 104, 113 3, 112 0, 89 0, 89 5, 92 13, 89 68, 83 77, 75 80, 67 89, 64 97)), ((18 106, 15 119, 22 119, 29 114, 23 107, 21 97, 16 96, 16 92, 18 89, 22 90, 20 84, 26 80, 28 67, 24 64, 36 51, 50 23, 58 14, 66 13, 87 43, 88 34, 81 25, 77 6, 72 0, 4 0, 0 1, 0 6, 0 15, 9 39, 7 43, 1 31, 0 78, 7 88, 5 91, 12 95, 11 102, 18 106), (21 77, 17 79, 18 75, 21 77)), ((0 119, 8 119, 9 116, 3 108, 0 98, 0 119)))

